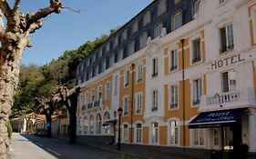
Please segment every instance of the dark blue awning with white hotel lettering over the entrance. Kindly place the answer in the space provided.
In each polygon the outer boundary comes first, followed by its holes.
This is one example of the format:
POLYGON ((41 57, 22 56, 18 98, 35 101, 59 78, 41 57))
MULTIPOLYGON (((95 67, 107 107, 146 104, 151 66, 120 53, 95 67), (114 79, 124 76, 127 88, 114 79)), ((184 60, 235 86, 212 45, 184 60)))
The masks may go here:
POLYGON ((235 123, 247 108, 202 112, 189 122, 189 128, 210 128, 235 123))

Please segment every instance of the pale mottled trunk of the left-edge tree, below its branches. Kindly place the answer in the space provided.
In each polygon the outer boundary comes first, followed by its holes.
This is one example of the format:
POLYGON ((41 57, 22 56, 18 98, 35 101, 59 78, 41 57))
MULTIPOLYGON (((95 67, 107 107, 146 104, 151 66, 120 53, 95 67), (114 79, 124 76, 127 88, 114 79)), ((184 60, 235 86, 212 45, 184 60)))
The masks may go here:
POLYGON ((16 49, 14 58, 3 50, 0 57, 0 159, 12 158, 10 155, 10 140, 7 133, 9 114, 14 103, 15 89, 18 84, 21 50, 16 49))

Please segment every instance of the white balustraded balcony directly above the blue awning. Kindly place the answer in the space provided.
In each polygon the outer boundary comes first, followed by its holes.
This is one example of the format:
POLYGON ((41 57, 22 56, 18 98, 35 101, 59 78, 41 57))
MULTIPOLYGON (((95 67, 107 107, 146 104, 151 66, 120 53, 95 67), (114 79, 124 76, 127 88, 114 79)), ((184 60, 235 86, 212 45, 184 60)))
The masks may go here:
POLYGON ((251 105, 256 106, 253 88, 245 88, 227 93, 202 95, 200 111, 232 109, 251 105))

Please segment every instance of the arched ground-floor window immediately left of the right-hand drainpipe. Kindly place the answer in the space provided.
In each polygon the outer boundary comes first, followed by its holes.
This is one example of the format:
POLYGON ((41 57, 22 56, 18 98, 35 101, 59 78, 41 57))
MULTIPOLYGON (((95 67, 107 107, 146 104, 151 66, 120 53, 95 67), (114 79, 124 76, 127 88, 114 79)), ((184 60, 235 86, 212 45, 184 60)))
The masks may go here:
POLYGON ((169 122, 169 144, 179 144, 179 124, 175 120, 169 122))

